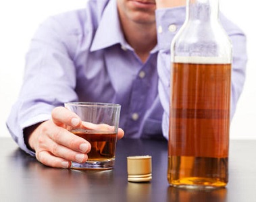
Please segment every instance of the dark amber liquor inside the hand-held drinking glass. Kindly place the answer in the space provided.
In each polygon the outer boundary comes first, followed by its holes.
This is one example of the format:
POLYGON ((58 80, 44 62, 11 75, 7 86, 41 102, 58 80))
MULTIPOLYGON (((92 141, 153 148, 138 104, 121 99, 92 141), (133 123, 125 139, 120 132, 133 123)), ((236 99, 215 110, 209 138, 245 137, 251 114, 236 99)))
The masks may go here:
POLYGON ((70 131, 91 143, 88 161, 106 161, 115 158, 117 134, 106 131, 73 129, 70 131))

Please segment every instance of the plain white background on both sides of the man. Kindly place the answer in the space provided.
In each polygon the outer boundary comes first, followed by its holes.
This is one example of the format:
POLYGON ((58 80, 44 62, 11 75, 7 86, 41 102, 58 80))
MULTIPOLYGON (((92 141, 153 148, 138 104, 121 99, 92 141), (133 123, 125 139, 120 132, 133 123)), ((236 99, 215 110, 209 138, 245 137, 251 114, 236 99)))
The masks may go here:
MULTIPOLYGON (((101 0, 99 0, 101 1, 101 0)), ((0 1, 0 137, 22 84, 24 59, 36 28, 49 15, 85 7, 86 0, 0 1)), ((247 80, 231 124, 232 139, 256 139, 256 11, 251 0, 220 0, 220 9, 247 34, 247 80)))

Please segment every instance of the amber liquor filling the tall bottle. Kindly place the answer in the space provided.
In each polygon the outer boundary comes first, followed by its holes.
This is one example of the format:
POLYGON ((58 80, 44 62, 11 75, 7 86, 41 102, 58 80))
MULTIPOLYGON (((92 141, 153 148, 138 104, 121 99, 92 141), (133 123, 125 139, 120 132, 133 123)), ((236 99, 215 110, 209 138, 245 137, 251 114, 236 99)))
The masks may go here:
POLYGON ((215 188, 228 182, 231 64, 173 63, 168 181, 215 188))

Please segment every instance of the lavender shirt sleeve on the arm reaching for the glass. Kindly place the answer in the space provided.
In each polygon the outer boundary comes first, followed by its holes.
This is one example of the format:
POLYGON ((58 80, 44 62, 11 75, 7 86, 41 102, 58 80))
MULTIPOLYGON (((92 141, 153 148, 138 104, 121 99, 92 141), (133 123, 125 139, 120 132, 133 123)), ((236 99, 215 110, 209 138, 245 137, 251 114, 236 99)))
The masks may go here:
POLYGON ((54 18, 44 22, 32 38, 24 83, 7 119, 11 136, 28 154, 34 155, 24 143, 23 129, 51 119, 55 106, 77 100, 72 38, 54 18))

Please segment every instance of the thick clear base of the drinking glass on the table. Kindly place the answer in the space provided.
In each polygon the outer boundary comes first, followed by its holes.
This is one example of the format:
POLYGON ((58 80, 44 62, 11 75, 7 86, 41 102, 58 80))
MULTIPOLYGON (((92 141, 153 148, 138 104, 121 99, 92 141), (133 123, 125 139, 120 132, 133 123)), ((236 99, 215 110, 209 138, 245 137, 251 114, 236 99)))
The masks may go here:
POLYGON ((77 162, 72 162, 71 167, 72 169, 78 170, 110 170, 113 169, 115 160, 88 160, 83 164, 79 164, 77 162))

